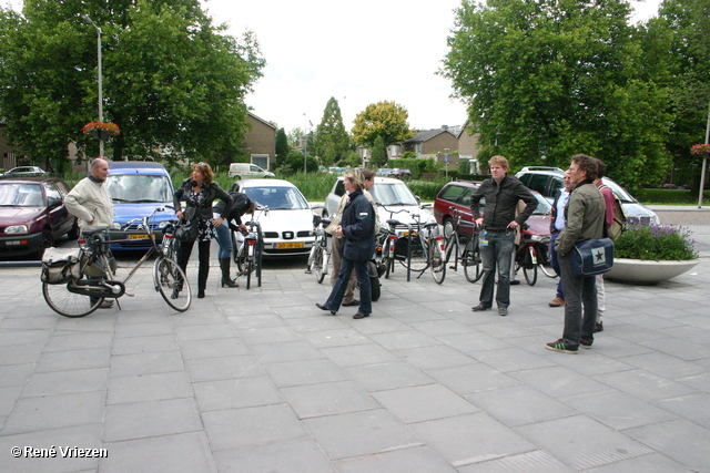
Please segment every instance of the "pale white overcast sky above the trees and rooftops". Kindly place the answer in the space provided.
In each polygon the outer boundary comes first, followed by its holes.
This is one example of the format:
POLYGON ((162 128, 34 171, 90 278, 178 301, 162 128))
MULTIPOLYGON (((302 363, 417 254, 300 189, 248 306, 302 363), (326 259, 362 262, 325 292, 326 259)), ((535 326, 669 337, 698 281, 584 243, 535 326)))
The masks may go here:
MULTIPOLYGON (((408 111, 412 128, 466 120, 450 82, 435 74, 460 0, 202 1, 230 34, 256 34, 266 66, 246 104, 286 132, 321 123, 332 96, 348 131, 355 115, 385 100, 408 111)), ((659 2, 632 1, 632 21, 655 16, 659 2)))

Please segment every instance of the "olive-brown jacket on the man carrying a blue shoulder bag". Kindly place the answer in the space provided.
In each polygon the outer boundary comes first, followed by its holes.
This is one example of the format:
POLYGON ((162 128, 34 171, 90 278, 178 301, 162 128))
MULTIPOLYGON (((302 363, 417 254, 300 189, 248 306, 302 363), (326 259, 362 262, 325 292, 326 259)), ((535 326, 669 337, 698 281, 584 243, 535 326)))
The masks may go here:
POLYGON ((585 181, 569 194, 565 208, 565 229, 555 241, 555 250, 565 256, 577 241, 601 238, 605 227, 604 196, 591 181, 585 181))

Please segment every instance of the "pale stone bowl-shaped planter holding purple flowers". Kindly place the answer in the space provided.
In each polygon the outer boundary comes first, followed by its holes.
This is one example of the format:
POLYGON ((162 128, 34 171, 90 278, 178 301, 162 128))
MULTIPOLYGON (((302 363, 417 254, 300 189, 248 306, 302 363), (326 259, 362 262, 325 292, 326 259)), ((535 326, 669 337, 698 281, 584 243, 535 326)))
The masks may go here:
POLYGON ((648 261, 643 259, 615 258, 613 267, 605 278, 619 282, 653 285, 682 275, 694 267, 699 259, 689 261, 648 261))

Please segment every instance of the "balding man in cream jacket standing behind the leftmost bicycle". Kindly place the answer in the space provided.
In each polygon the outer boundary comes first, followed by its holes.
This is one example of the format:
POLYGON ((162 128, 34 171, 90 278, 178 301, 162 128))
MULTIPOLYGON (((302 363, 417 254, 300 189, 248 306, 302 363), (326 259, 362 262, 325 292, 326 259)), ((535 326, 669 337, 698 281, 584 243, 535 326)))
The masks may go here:
MULTIPOLYGON (((105 230, 108 233, 113 224, 113 202, 109 189, 103 185, 108 176, 109 163, 97 157, 91 162, 91 174, 79 181, 74 188, 67 194, 64 205, 67 210, 78 218, 82 233, 87 230, 105 230)), ((106 233, 100 234, 103 240, 106 239, 106 233)), ((105 245, 103 249, 108 250, 105 245)), ((94 302, 94 300, 91 301, 92 305, 94 302)), ((113 307, 113 300, 104 300, 99 306, 101 309, 111 307, 113 307)))

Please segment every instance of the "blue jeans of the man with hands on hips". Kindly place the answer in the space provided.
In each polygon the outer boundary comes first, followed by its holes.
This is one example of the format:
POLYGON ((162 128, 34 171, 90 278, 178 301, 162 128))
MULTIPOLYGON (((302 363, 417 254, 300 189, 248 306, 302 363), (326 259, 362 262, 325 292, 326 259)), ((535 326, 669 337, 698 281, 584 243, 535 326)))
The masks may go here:
POLYGON ((515 246, 515 230, 489 232, 480 235, 480 259, 484 264, 484 275, 480 287, 480 305, 493 307, 493 291, 496 286, 496 267, 498 269, 498 290, 496 302, 498 308, 510 305, 510 263, 515 246), (486 245, 485 241, 488 241, 486 245))

